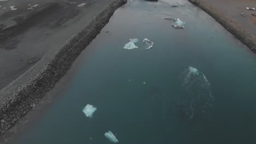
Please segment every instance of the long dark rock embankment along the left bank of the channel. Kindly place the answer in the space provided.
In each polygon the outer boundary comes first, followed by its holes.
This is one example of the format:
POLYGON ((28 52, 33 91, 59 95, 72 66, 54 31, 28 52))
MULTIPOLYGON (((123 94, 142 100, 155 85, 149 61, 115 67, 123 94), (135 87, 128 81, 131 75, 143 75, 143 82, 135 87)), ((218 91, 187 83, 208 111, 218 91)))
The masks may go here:
POLYGON ((114 11, 125 3, 127 0, 114 0, 109 3, 88 25, 61 47, 42 70, 0 102, 0 135, 17 123, 54 87, 85 47, 108 23, 114 11))

